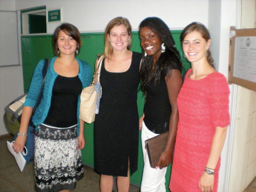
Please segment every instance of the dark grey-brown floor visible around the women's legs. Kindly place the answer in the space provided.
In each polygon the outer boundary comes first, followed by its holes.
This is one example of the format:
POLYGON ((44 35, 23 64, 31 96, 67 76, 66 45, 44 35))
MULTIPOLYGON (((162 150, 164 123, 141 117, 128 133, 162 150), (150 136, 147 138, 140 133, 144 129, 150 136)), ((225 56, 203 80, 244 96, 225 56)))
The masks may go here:
MULTIPOLYGON (((6 147, 6 141, 12 139, 13 136, 0 137, 0 192, 33 192, 33 163, 27 164, 20 173, 14 157, 6 147)), ((78 182, 74 192, 99 192, 100 175, 86 166, 84 171, 85 176, 78 182)), ((131 185, 129 192, 139 192, 139 188, 131 185)), ((256 178, 244 192, 256 192, 256 178)))

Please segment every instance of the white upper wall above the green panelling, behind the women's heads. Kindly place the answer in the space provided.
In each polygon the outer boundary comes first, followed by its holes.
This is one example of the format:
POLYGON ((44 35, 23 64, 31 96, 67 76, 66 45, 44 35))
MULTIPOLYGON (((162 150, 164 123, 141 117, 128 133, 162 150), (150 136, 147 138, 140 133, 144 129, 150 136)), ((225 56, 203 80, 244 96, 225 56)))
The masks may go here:
MULTIPOLYGON (((70 22, 79 31, 103 31, 117 16, 127 17, 137 30, 145 17, 161 17, 170 28, 184 28, 192 21, 208 25, 208 0, 17 0, 16 10, 46 6, 63 8, 64 22, 70 22), (186 6, 185 6, 186 5, 186 6)), ((59 23, 47 24, 47 33, 53 33, 59 23)))

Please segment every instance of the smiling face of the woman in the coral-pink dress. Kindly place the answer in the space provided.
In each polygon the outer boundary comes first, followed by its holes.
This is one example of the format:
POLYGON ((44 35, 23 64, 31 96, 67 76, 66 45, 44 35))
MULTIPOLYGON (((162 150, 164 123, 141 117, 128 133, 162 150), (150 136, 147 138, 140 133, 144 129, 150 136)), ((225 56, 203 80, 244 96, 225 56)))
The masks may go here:
POLYGON ((186 58, 190 62, 195 63, 197 61, 202 61, 203 59, 207 60, 206 54, 210 44, 211 39, 206 42, 201 33, 192 31, 184 37, 182 48, 186 58))

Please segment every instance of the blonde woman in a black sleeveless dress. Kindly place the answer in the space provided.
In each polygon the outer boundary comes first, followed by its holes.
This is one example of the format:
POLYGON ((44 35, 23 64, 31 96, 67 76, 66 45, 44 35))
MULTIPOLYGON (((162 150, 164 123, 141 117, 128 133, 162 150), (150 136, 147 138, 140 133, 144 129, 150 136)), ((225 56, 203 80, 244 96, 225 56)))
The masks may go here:
POLYGON ((137 170, 141 54, 129 50, 131 39, 128 19, 117 17, 109 22, 100 70, 102 96, 94 124, 95 171, 101 175, 101 192, 111 192, 113 176, 117 176, 118 191, 128 192, 130 173, 137 170))

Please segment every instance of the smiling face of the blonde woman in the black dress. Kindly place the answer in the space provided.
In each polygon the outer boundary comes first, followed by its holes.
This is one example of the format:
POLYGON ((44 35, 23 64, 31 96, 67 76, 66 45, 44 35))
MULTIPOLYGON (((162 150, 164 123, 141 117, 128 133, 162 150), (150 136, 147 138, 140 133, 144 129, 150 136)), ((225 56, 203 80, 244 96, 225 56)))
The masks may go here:
POLYGON ((130 36, 125 25, 117 25, 110 30, 108 39, 113 50, 121 51, 127 49, 130 36))

